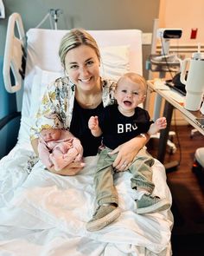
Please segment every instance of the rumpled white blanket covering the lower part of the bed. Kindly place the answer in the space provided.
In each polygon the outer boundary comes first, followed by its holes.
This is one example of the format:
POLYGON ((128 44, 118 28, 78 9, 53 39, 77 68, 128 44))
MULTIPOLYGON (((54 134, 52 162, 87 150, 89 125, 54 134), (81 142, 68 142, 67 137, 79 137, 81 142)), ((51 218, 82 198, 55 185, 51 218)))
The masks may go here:
MULTIPOLYGON (((28 144, 16 145, 0 161, 0 255, 170 255, 170 211, 139 215, 131 174, 117 174, 122 214, 99 232, 86 231, 95 206, 93 173, 87 157, 76 176, 51 174, 35 161, 28 144), (30 172, 30 170, 32 171, 30 172)), ((163 166, 156 161, 155 194, 171 200, 163 166)))

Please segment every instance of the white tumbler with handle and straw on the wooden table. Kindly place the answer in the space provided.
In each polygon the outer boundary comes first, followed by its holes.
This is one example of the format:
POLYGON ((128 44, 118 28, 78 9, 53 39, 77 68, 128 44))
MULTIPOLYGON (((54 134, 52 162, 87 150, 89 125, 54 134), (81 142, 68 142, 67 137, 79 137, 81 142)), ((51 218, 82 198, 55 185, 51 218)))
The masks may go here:
POLYGON ((200 49, 191 58, 183 60, 181 82, 186 85, 187 91, 184 108, 191 111, 199 110, 204 94, 204 54, 201 54, 200 49))

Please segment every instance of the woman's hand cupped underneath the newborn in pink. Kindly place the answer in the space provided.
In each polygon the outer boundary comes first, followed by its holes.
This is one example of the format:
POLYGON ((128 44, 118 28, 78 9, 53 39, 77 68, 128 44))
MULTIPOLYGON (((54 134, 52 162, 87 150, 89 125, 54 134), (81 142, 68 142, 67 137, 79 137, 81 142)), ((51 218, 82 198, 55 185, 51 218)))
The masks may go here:
POLYGON ((67 167, 64 167, 60 171, 54 170, 54 167, 48 168, 51 173, 60 174, 64 176, 73 176, 78 174, 82 168, 85 167, 85 163, 81 161, 71 162, 67 167))

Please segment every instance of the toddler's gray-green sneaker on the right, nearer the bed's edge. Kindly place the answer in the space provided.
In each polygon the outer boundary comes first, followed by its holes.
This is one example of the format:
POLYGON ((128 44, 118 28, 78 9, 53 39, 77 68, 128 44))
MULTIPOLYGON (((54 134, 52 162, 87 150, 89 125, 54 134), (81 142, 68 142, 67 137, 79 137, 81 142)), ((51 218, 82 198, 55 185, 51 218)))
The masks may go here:
POLYGON ((150 194, 143 194, 140 200, 136 200, 136 204, 136 212, 139 214, 161 212, 170 207, 169 200, 150 194))

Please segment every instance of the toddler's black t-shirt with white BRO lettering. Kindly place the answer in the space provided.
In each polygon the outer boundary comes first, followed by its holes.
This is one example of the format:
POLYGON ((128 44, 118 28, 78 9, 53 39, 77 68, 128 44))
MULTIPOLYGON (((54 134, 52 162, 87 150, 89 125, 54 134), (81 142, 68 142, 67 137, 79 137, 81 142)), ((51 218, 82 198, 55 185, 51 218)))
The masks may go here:
POLYGON ((108 148, 117 148, 137 135, 146 133, 152 122, 149 113, 143 108, 135 108, 135 115, 124 116, 118 111, 117 104, 107 106, 99 114, 103 144, 108 148))

